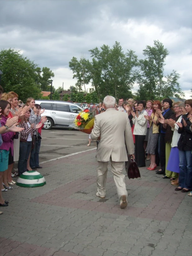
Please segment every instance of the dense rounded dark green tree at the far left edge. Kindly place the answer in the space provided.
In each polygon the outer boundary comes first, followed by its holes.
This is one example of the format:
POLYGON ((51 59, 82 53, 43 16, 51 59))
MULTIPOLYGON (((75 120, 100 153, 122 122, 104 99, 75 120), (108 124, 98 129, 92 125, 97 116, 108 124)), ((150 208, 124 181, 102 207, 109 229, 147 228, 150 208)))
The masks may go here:
POLYGON ((0 51, 2 87, 5 92, 14 91, 25 102, 28 97, 40 98, 37 65, 14 49, 0 51))

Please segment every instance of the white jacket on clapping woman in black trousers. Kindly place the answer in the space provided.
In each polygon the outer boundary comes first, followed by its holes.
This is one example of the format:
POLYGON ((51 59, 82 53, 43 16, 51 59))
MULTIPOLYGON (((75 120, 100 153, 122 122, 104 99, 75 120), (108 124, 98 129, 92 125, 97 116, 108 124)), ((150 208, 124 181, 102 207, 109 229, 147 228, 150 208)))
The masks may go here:
POLYGON ((134 135, 146 135, 147 134, 147 122, 148 120, 144 118, 144 116, 148 116, 146 110, 139 113, 139 117, 134 117, 132 119, 133 124, 135 125, 133 134, 134 135))

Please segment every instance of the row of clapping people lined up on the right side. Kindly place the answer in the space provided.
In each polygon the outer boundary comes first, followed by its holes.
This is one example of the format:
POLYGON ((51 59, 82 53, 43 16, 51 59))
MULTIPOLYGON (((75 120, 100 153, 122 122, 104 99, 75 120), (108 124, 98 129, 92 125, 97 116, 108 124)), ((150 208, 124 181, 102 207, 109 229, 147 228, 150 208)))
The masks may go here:
POLYGON ((145 167, 145 160, 150 160, 150 171, 160 165, 157 174, 192 196, 192 99, 127 99, 120 107, 129 115, 138 167, 145 167))

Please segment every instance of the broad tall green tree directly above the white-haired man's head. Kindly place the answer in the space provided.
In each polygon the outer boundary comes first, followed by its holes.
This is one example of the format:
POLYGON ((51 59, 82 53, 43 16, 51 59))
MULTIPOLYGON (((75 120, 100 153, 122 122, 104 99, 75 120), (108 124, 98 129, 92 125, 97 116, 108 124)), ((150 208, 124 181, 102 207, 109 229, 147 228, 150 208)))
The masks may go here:
POLYGON ((101 51, 97 47, 89 51, 93 57, 92 85, 98 92, 99 101, 107 94, 118 99, 132 89, 136 79, 135 52, 128 50, 124 53, 118 42, 115 42, 111 49, 108 45, 103 45, 101 51))

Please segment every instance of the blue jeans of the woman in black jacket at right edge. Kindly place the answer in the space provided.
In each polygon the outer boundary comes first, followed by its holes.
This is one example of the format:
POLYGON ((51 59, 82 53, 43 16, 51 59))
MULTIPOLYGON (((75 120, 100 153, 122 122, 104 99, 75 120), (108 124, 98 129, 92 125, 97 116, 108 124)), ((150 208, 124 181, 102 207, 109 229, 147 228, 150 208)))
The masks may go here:
POLYGON ((192 155, 190 151, 179 150, 179 186, 192 190, 192 155))

